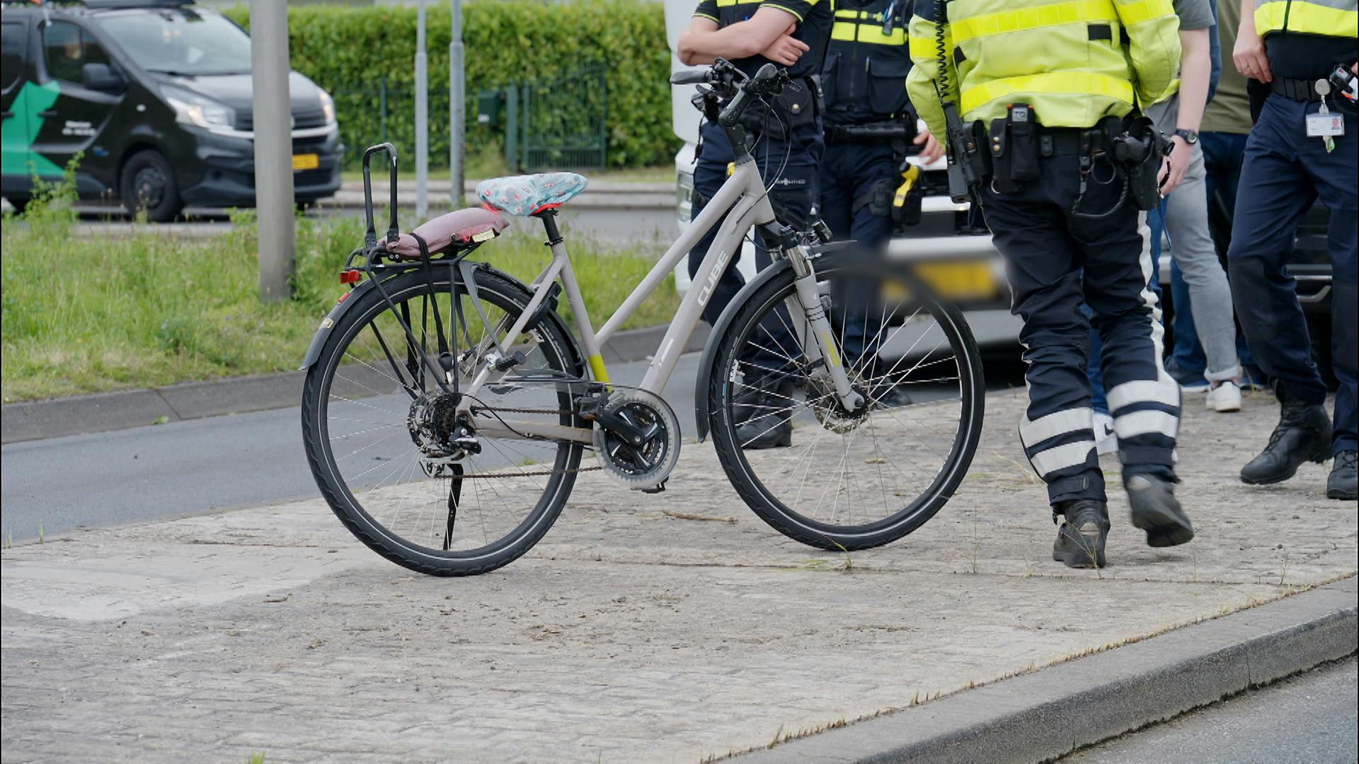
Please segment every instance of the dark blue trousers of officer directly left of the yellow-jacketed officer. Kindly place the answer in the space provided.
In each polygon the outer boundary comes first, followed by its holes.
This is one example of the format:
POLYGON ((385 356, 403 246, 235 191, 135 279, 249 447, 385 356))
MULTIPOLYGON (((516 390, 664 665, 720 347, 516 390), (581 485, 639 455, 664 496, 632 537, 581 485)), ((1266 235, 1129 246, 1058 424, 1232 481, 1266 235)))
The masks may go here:
MULTIPOLYGON (((879 182, 900 181, 897 160, 892 145, 885 143, 832 143, 826 145, 826 158, 821 163, 821 219, 830 227, 837 239, 855 239, 868 251, 881 251, 892 239, 892 218, 874 215, 868 205, 855 211, 855 200, 872 192, 879 182)), ((892 185, 896 189, 896 185, 892 185)), ((839 298, 839 295, 837 295, 839 298)), ((837 299, 839 302, 839 299, 837 299)), ((867 302, 851 300, 867 307, 867 302)), ((834 315, 832 315, 834 318, 834 315)), ((845 314, 840 330, 843 347, 840 352, 858 366, 866 352, 868 322, 859 314, 845 314)))

